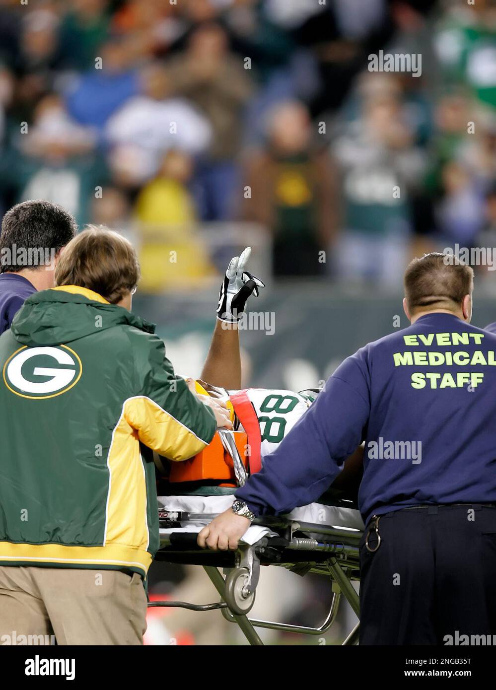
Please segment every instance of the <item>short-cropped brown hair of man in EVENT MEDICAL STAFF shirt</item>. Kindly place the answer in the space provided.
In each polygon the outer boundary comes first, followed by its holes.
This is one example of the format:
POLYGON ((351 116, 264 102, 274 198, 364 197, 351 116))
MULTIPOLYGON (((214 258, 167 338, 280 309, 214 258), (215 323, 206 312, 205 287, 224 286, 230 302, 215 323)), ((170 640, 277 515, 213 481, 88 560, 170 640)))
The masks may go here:
POLYGON ((456 311, 474 288, 474 272, 455 255, 431 252, 413 259, 405 273, 410 313, 426 309, 456 311))

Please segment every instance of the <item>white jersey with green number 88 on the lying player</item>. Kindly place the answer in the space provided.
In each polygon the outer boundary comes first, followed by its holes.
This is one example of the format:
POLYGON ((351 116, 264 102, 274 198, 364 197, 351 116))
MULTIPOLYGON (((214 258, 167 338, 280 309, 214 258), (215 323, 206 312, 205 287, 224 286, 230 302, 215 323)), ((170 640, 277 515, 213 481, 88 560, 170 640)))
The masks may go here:
MULTIPOLYGON (((235 393, 237 391, 230 391, 235 393)), ((246 395, 255 408, 261 433, 261 458, 275 451, 310 406, 310 402, 292 391, 246 388, 246 395)))

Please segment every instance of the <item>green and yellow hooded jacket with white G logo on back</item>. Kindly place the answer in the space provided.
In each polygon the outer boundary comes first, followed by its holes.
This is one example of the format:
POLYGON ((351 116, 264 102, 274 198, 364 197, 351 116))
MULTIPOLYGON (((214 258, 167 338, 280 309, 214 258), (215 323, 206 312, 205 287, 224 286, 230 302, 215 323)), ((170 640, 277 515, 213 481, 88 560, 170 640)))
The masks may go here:
POLYGON ((186 460, 216 427, 154 328, 63 286, 32 295, 1 335, 1 565, 146 575, 159 528, 145 446, 186 460))

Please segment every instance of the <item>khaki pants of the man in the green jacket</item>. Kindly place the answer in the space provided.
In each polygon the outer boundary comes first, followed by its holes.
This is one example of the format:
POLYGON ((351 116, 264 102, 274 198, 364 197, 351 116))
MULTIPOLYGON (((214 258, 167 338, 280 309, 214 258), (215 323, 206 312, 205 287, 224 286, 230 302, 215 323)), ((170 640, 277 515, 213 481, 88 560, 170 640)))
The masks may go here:
POLYGON ((143 644, 145 631, 137 573, 0 566, 0 644, 143 644))

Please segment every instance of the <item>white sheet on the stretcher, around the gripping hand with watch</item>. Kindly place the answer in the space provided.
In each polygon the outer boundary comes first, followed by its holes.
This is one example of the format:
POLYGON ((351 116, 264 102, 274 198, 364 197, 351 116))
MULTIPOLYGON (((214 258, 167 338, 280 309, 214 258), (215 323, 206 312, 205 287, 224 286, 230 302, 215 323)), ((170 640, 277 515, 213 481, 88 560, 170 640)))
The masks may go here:
MULTIPOLYGON (((180 511, 185 513, 204 513, 206 515, 218 515, 224 513, 234 501, 234 496, 159 496, 159 507, 166 508, 168 511, 180 511)), ((325 506, 321 503, 310 503, 308 506, 295 508, 284 517, 296 522, 312 522, 326 526, 341 527, 350 530, 364 529, 364 522, 361 520, 359 511, 353 508, 339 508, 337 506, 325 506)), ((181 522, 181 527, 161 529, 161 534, 170 532, 199 532, 206 524, 207 520, 198 522, 181 522)), ((259 539, 266 535, 273 535, 268 527, 252 525, 241 538, 245 544, 255 544, 259 539)))

